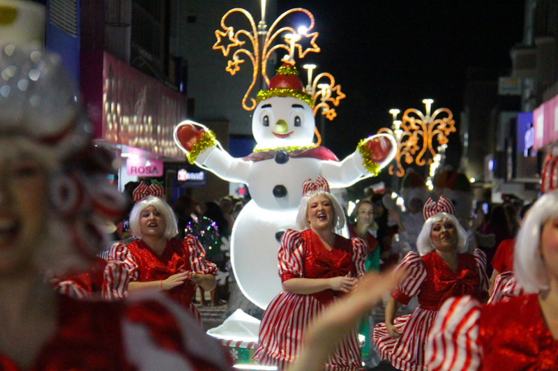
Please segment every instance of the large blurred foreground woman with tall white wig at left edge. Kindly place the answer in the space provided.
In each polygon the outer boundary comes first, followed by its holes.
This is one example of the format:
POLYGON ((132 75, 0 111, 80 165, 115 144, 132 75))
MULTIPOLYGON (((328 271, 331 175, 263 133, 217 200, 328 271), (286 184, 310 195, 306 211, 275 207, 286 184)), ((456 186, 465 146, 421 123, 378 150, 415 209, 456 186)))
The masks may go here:
POLYGON ((124 202, 59 59, 4 45, 0 76, 0 369, 227 370, 172 301, 78 301, 45 283, 90 268, 124 202))

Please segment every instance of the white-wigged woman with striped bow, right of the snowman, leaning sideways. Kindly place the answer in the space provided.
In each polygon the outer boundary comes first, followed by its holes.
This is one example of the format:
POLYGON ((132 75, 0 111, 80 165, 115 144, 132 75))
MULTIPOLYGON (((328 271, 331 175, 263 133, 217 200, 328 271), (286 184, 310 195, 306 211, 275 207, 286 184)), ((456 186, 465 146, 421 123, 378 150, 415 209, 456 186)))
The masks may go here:
POLYGON ((425 340, 447 298, 488 298, 485 255, 480 250, 465 253, 467 234, 453 214, 453 204, 444 196, 438 203, 428 199, 417 241, 421 255, 409 252, 396 268, 403 278, 386 304, 386 322, 374 328, 372 340, 380 358, 399 370, 426 370, 425 340), (418 296, 418 308, 395 318, 413 296, 418 296))

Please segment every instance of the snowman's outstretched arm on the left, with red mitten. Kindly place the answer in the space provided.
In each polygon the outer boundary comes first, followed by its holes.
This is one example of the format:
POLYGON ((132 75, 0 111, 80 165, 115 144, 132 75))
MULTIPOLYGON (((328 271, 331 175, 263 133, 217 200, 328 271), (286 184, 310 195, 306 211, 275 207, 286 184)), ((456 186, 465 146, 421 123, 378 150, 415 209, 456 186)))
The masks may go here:
POLYGON ((183 121, 174 128, 174 142, 186 153, 188 162, 213 172, 225 181, 247 183, 252 162, 234 158, 221 147, 208 128, 183 121))

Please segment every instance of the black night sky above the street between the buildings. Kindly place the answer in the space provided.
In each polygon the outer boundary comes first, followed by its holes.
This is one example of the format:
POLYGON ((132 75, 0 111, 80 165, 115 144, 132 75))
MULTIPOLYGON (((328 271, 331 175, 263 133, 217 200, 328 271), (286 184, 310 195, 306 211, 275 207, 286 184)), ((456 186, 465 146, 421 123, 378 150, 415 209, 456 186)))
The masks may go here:
MULTIPOLYGON (((432 110, 451 109, 458 124, 469 68, 495 80, 509 75, 525 1, 278 0, 278 14, 297 7, 314 14, 322 49, 303 63, 331 73, 347 95, 338 117, 326 121, 324 142, 343 158, 359 139, 391 126, 389 109, 424 112, 424 98, 435 100, 432 110)), ((457 134, 449 139, 458 146, 457 134)))

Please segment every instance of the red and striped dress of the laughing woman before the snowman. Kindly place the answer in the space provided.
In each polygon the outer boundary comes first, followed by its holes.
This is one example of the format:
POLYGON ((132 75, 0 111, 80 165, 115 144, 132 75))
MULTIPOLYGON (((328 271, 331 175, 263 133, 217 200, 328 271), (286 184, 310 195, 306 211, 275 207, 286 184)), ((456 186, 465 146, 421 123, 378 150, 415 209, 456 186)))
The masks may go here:
MULTIPOLYGON (((279 274, 282 282, 291 278, 359 277, 364 273, 366 252, 361 239, 336 236, 329 251, 312 230, 289 229, 282 236, 278 252, 279 274)), ((285 369, 300 352, 308 321, 340 294, 331 289, 309 295, 280 292, 264 312, 253 358, 261 365, 285 369)), ((335 350, 324 370, 361 370, 356 328, 335 350)))

